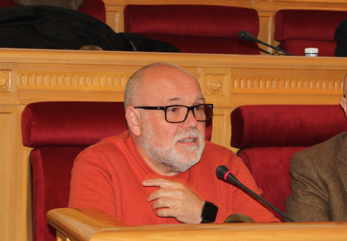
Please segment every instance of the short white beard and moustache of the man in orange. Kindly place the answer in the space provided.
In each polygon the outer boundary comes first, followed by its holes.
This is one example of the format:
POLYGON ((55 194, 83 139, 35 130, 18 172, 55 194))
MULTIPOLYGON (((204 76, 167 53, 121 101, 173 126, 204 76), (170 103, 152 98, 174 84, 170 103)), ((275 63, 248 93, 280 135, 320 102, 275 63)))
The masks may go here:
POLYGON ((144 121, 142 125, 142 135, 139 141, 147 152, 157 161, 171 168, 173 172, 185 172, 200 161, 202 152, 205 148, 205 138, 196 129, 187 129, 175 135, 171 146, 158 147, 154 143, 153 128, 149 121, 144 121), (179 153, 176 143, 185 137, 195 137, 197 145, 187 147, 186 153, 179 153))

